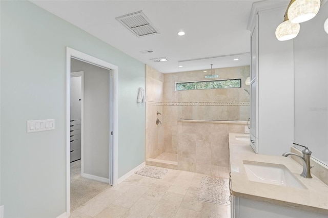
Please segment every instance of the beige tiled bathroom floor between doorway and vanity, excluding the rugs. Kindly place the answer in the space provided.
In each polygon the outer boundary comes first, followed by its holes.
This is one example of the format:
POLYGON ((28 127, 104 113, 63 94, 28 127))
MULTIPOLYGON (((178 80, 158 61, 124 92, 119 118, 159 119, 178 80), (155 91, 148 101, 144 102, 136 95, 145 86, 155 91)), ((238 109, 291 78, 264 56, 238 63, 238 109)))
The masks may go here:
POLYGON ((169 170, 162 179, 132 175, 73 211, 71 217, 230 217, 229 206, 198 200, 201 179, 208 175, 169 170))

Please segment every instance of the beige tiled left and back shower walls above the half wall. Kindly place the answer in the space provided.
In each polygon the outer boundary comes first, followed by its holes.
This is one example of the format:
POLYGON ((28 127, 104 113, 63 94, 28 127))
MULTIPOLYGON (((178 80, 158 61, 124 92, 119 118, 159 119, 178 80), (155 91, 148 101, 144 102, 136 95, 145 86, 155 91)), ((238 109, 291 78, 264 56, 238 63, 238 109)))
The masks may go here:
MULTIPOLYGON (((146 159, 156 158, 162 152, 177 154, 178 119, 247 120, 249 118, 250 96, 244 91, 244 89, 250 91, 250 86, 245 85, 246 78, 250 76, 249 66, 213 69, 213 74, 219 75, 218 79, 241 78, 242 88, 175 91, 175 82, 206 80, 204 76, 209 74, 211 70, 207 70, 206 73, 202 70, 162 74, 147 66, 146 159), (157 111, 162 116, 157 116, 157 111), (161 120, 162 125, 156 125, 156 118, 161 120)), ((220 134, 223 132, 218 133, 220 134)))

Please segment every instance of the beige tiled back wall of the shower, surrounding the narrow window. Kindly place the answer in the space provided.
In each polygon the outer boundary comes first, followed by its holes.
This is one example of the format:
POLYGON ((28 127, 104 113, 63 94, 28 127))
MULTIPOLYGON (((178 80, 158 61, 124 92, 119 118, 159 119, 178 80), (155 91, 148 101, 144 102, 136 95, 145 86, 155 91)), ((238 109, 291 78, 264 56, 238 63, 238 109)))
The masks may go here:
POLYGON ((163 74, 165 152, 177 152, 178 119, 248 120, 250 117, 250 95, 244 91, 250 91, 250 85, 245 85, 250 66, 213 69, 218 79, 241 78, 241 88, 175 91, 175 82, 213 80, 204 77, 211 74, 211 69, 203 71, 163 74))

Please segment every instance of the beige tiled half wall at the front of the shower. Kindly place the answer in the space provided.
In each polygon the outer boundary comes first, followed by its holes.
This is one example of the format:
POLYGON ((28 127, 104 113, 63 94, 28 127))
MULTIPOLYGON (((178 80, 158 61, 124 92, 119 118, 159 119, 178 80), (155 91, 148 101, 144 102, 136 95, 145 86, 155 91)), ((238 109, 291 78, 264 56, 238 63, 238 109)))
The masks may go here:
POLYGON ((243 133, 245 124, 178 122, 178 169, 229 175, 228 133, 243 133))

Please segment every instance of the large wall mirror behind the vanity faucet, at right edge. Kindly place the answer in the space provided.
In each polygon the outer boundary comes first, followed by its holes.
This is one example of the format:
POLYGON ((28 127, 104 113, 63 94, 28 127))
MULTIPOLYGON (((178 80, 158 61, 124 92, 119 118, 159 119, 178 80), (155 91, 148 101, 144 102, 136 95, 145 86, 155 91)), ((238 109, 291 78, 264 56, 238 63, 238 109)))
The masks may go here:
POLYGON ((324 4, 294 39, 294 142, 308 146, 312 157, 328 166, 327 17, 324 4))

